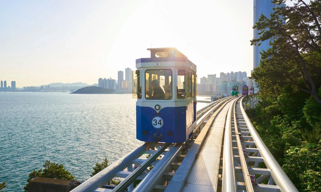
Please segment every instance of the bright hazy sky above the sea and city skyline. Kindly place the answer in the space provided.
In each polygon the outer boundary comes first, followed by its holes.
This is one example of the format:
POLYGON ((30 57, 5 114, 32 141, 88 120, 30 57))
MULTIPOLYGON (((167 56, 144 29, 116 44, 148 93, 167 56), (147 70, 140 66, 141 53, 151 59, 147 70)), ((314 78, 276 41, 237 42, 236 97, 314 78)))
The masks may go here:
POLYGON ((253 0, 0 0, 0 80, 117 80, 117 71, 150 57, 151 44, 178 48, 199 78, 250 74, 252 26, 253 0))

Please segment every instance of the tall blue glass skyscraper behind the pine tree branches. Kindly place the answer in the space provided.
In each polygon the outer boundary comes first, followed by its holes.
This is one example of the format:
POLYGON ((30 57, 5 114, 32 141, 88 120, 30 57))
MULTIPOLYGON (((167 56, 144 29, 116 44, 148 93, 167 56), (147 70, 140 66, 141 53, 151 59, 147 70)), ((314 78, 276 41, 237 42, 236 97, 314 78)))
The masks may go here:
MULTIPOLYGON (((270 14, 273 13, 273 8, 276 8, 278 6, 285 7, 286 4, 273 4, 271 3, 271 0, 254 0, 254 6, 253 6, 253 24, 255 22, 258 22, 261 14, 266 16, 268 19, 270 19, 270 14)), ((259 35, 257 34, 257 30, 253 29, 253 38, 257 39, 259 35)), ((259 66, 260 63, 260 51, 267 50, 268 48, 271 48, 269 45, 269 41, 265 40, 262 42, 260 46, 253 46, 253 68, 256 68, 259 66)))

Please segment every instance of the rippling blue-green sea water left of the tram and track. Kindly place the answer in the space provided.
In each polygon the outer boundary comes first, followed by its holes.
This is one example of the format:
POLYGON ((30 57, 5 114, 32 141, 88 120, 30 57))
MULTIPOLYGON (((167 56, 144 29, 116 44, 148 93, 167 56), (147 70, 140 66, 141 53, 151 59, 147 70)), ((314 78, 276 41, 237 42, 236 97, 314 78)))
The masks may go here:
POLYGON ((131 94, 0 92, 3 191, 23 191, 29 173, 46 160, 63 164, 78 180, 90 178, 96 161, 115 162, 143 143, 135 118, 131 94))

